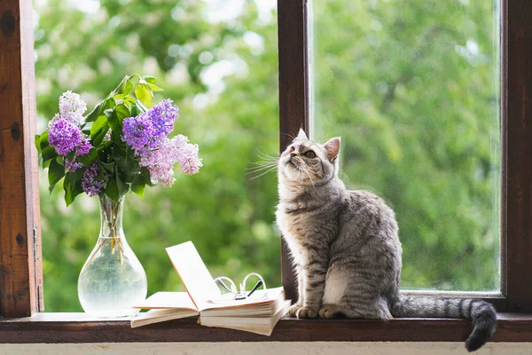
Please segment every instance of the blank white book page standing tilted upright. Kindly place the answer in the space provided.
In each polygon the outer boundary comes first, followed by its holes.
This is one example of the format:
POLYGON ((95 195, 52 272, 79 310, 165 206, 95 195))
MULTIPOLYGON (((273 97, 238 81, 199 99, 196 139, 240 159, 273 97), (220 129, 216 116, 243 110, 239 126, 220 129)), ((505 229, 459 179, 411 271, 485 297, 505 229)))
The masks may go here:
POLYGON ((207 266, 201 260, 201 256, 192 241, 168 247, 166 250, 176 272, 183 281, 184 288, 191 296, 197 309, 200 310, 200 303, 207 299, 221 296, 215 280, 208 272, 207 266))

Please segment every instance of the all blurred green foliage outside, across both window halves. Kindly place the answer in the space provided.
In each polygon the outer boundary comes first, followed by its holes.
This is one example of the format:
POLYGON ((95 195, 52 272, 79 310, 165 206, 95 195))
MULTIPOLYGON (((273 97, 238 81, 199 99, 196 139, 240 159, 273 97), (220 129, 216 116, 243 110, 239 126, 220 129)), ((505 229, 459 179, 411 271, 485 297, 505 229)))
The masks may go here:
MULTIPOLYGON (((277 17, 264 1, 34 2, 39 130, 63 91, 91 107, 139 73, 158 78, 155 102, 174 99, 175 132, 200 145, 199 174, 176 171, 172 188, 127 196, 124 230, 149 294, 182 289, 164 248, 188 240, 213 275, 259 271, 280 283, 277 178, 246 175, 259 150, 278 154, 277 17)), ((341 135, 342 177, 395 209, 406 288, 498 287, 495 8, 314 1, 314 136, 341 135)), ((79 312, 98 201, 83 195, 66 209, 44 175, 41 185, 46 311, 79 312)))

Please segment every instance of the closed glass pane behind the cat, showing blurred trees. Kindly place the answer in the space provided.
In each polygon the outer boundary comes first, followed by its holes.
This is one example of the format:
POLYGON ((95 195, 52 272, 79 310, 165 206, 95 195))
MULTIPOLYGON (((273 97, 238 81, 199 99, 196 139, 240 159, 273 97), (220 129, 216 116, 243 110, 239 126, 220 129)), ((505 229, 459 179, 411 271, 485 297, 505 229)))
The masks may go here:
POLYGON ((499 288, 497 0, 312 0, 313 136, 395 209, 403 288, 499 288))

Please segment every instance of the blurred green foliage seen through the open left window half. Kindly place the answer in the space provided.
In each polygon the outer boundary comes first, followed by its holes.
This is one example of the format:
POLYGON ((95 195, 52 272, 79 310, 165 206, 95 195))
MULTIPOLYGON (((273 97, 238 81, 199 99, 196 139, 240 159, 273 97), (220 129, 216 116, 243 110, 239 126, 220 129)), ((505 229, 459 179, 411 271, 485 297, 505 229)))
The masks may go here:
MULTIPOLYGON (((280 284, 274 224, 277 180, 250 180, 257 148, 278 151, 275 0, 35 0, 39 131, 59 95, 90 109, 124 75, 153 75, 181 114, 174 133, 200 146, 203 168, 171 187, 126 196, 124 232, 144 265, 148 294, 184 290, 164 248, 194 241, 213 276, 261 272, 280 284)), ((62 189, 41 176, 44 301, 47 312, 80 312, 77 278, 96 245, 98 200, 66 209, 62 189)))

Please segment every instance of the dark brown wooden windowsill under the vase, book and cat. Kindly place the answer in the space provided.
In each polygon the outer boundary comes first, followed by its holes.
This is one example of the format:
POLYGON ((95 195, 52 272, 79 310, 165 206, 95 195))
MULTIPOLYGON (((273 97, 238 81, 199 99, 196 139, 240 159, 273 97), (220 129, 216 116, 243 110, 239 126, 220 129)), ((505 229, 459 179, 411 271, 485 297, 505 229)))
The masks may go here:
MULTIPOLYGON (((271 336, 202 327, 176 319, 131 328, 128 319, 95 319, 85 313, 39 313, 0 319, 0 343, 159 342, 463 342, 467 319, 293 319, 278 322, 271 336)), ((493 342, 532 342, 532 314, 499 313, 493 342)))

